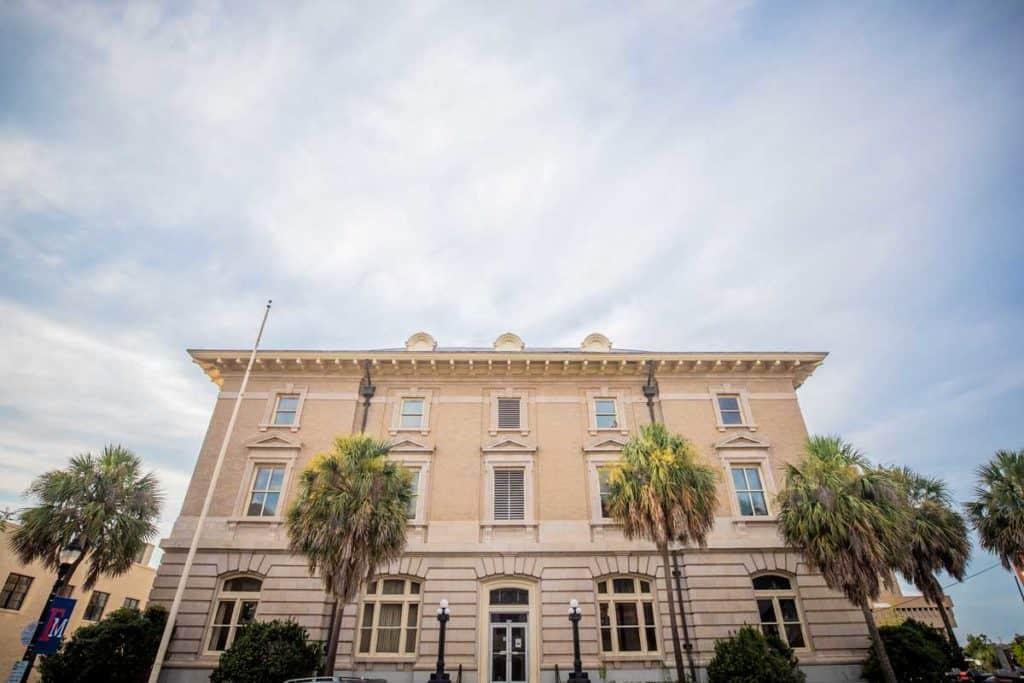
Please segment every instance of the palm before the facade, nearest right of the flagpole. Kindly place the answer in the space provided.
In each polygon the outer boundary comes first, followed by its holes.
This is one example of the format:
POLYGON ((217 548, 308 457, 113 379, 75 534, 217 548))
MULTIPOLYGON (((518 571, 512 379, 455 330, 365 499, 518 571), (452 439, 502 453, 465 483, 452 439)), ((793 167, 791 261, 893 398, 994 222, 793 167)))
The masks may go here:
POLYGON ((339 618, 331 623, 326 664, 334 669, 341 610, 378 568, 406 548, 406 511, 412 478, 386 460, 390 446, 364 435, 339 436, 302 472, 288 511, 292 552, 306 556, 310 574, 321 571, 339 618))

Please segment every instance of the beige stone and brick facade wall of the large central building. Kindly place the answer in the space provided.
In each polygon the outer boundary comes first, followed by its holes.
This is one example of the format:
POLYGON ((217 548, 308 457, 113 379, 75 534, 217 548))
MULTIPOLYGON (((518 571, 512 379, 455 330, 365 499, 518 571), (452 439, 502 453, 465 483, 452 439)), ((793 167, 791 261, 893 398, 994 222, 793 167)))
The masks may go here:
MULTIPOLYGON (((402 358, 407 365, 397 366, 399 369, 409 367, 408 357, 402 358)), ((544 361, 540 355, 537 358, 538 365, 544 361)), ((391 659, 355 655, 352 639, 358 605, 350 605, 343 615, 338 667, 389 672, 432 669, 437 635, 433 609, 443 597, 452 601, 454 609, 450 664, 453 668, 461 664, 464 671, 476 672, 484 660, 481 643, 486 640, 480 607, 484 587, 489 580, 505 577, 503 581, 523 582, 531 587, 531 596, 536 595, 530 638, 536 639, 532 651, 540 653, 531 659, 539 671, 557 664, 564 676, 570 665, 565 611, 568 600, 575 598, 584 606, 583 651, 588 668, 595 670, 603 665, 612 671, 628 670, 634 679, 637 670, 653 669, 657 671, 642 680, 660 680, 663 664, 672 661, 662 562, 649 544, 627 541, 614 525, 595 519, 595 482, 589 465, 595 457, 615 457, 615 442, 624 441, 649 421, 642 393, 645 373, 639 372, 642 369, 605 369, 588 374, 590 371, 582 368, 582 374, 575 375, 548 370, 530 374, 528 369, 515 375, 518 371, 511 361, 490 368, 480 361, 482 367, 465 374, 444 374, 429 370, 426 364, 430 359, 446 362, 439 354, 427 355, 421 357, 418 369, 384 372, 383 368, 391 366, 382 358, 380 367, 375 368, 377 392, 367 423, 369 434, 397 444, 395 458, 416 458, 429 464, 420 492, 424 518, 411 526, 406 559, 390 569, 423 581, 417 654, 391 659), (492 400, 496 392, 526 396, 525 429, 494 433, 492 400), (394 412, 407 393, 428 397, 426 429, 393 429, 394 412), (613 396, 620 401, 622 428, 592 428, 590 399, 594 395, 613 396), (532 504, 525 523, 495 524, 487 519, 486 463, 493 458, 520 458, 531 463, 532 504), (599 652, 595 578, 616 571, 657 580, 662 651, 655 656, 611 657, 599 652)), ((283 372, 294 364, 294 359, 276 364, 272 354, 268 355, 242 401, 171 646, 173 666, 213 666, 213 659, 201 654, 211 603, 218 582, 237 571, 265 578, 258 612, 261 618, 291 616, 309 628, 314 637, 323 636, 329 607, 319 582, 308 575, 300 558, 288 554, 281 520, 239 516, 240 501, 249 485, 246 477, 250 463, 267 454, 289 458, 291 476, 286 488, 287 499, 291 499, 295 474, 309 459, 328 450, 336 435, 358 430, 362 417, 358 398, 361 367, 352 364, 337 369, 325 364, 328 370, 322 372, 315 359, 309 357, 301 370, 283 372), (298 427, 261 427, 274 392, 289 387, 304 392, 298 427)), ((210 371, 211 366, 206 367, 210 371)), ((721 371, 713 362, 705 366, 707 372, 679 372, 679 367, 675 368, 676 372, 659 370, 657 374, 660 393, 655 415, 670 429, 691 439, 701 457, 721 472, 718 517, 709 548, 691 549, 683 560, 685 601, 699 659, 710 658, 716 638, 742 624, 757 623, 751 575, 778 569, 794 577, 805 614, 811 646, 800 653, 801 660, 812 665, 860 660, 867 644, 860 612, 782 548, 771 517, 738 516, 726 476, 730 459, 752 461, 764 468, 769 496, 773 484, 781 485, 785 465, 800 457, 807 436, 795 375, 785 366, 779 372, 769 372, 763 366, 755 367, 753 361, 750 372, 721 371), (720 426, 713 400, 716 391, 742 394, 753 424, 720 426)), ((168 603, 241 381, 238 364, 222 364, 215 373, 210 372, 222 382, 221 395, 182 516, 164 542, 168 552, 153 593, 153 599, 168 603)), ((770 512, 774 513, 771 504, 770 512)), ((609 674, 608 678, 615 677, 609 674)))

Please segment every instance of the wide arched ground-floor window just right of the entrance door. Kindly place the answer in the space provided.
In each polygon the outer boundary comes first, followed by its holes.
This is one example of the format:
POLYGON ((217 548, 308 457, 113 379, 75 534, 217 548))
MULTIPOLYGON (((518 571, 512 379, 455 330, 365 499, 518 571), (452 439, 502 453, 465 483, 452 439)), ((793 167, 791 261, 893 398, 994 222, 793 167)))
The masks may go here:
POLYGON ((657 651, 654 597, 648 580, 615 577, 599 581, 597 601, 601 651, 657 651))

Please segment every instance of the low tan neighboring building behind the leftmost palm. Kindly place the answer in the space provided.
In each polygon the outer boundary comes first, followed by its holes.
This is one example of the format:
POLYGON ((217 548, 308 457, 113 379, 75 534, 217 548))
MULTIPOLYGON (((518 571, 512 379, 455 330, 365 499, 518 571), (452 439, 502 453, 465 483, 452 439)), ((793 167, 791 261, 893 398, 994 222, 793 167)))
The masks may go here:
MULTIPOLYGON (((57 579, 55 571, 45 568, 40 562, 26 565, 17 559, 9 543, 10 535, 16 526, 8 523, 7 530, 0 535, 3 537, 3 546, 0 548, 0 581, 4 582, 0 592, 0 670, 5 675, 25 654, 22 631, 30 624, 36 624, 50 596, 53 582, 57 579)), ((65 638, 72 637, 75 630, 83 624, 96 622, 119 607, 145 608, 150 591, 153 590, 153 580, 157 574, 157 570, 150 566, 153 550, 153 546, 146 545, 127 573, 114 578, 100 577, 90 591, 82 589, 83 578, 88 570, 86 559, 72 577, 70 590, 63 593, 77 601, 65 638)), ((38 672, 38 669, 34 671, 38 672)))

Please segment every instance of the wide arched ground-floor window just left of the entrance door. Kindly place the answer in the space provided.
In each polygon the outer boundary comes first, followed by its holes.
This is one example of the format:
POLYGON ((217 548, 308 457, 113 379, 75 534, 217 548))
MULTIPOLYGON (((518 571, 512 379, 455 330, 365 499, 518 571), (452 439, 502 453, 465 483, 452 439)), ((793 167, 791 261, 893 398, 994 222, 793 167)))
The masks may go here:
POLYGON ((416 654, 419 620, 420 582, 370 582, 359 620, 359 654, 416 654))

